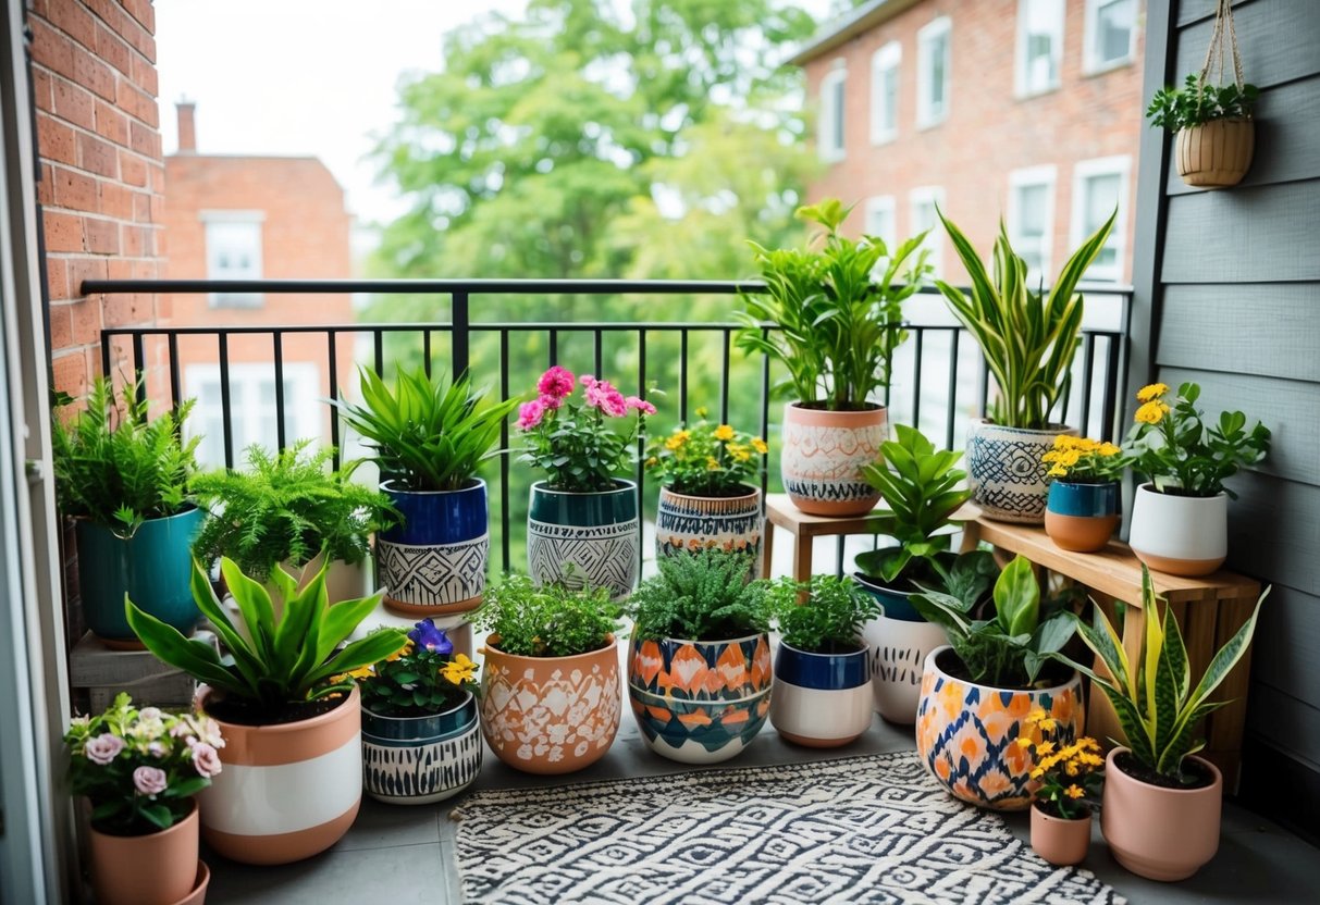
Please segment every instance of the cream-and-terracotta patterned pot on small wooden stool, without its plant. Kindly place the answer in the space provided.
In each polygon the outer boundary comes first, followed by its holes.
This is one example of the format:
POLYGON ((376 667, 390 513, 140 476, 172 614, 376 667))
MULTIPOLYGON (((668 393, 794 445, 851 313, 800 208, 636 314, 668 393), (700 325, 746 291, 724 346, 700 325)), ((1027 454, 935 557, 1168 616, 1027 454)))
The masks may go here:
POLYGON ((866 412, 784 406, 784 452, 780 475, 793 505, 813 516, 861 516, 880 495, 861 478, 888 438, 888 410, 866 412))

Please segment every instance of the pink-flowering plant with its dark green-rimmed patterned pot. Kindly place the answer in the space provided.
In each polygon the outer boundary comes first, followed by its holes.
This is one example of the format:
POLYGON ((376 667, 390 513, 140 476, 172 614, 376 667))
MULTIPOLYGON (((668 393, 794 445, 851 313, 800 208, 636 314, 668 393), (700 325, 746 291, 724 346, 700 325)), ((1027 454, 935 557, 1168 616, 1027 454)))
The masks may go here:
POLYGON ((638 484, 615 475, 632 460, 638 433, 656 408, 624 396, 607 380, 549 368, 537 397, 519 409, 527 437, 520 462, 545 472, 532 484, 527 512, 527 569, 541 583, 607 587, 615 600, 638 583, 642 522, 638 484), (624 430, 615 425, 635 413, 624 430))

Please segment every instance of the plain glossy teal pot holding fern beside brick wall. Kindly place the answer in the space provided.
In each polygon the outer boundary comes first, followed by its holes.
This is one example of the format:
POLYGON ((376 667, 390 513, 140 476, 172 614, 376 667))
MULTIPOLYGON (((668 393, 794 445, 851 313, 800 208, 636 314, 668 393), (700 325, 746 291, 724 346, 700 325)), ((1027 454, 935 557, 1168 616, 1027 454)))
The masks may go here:
POLYGON ((87 628, 110 646, 141 649, 124 617, 124 594, 144 612, 191 635, 202 620, 193 602, 193 538, 205 513, 191 508, 148 518, 129 538, 79 518, 78 586, 87 628))

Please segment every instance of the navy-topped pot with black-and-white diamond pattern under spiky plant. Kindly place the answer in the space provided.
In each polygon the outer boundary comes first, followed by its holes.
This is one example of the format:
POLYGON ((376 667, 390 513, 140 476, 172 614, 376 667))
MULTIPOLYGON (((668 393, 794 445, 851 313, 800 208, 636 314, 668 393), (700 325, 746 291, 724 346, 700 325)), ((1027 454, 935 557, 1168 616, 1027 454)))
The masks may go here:
POLYGON ((490 509, 486 482, 458 491, 380 488, 403 513, 376 537, 376 567, 385 607, 404 616, 475 609, 486 591, 490 509))

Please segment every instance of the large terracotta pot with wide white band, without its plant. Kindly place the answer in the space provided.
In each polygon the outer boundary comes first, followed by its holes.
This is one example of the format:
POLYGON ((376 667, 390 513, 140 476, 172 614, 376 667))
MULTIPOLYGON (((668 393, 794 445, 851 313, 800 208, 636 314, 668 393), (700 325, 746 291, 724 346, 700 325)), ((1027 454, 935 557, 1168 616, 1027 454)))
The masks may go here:
MULTIPOLYGON (((199 690, 203 710, 213 694, 199 690)), ((348 831, 362 803, 356 687, 334 710, 294 723, 216 722, 224 770, 198 796, 206 844, 243 864, 288 864, 348 831)))

